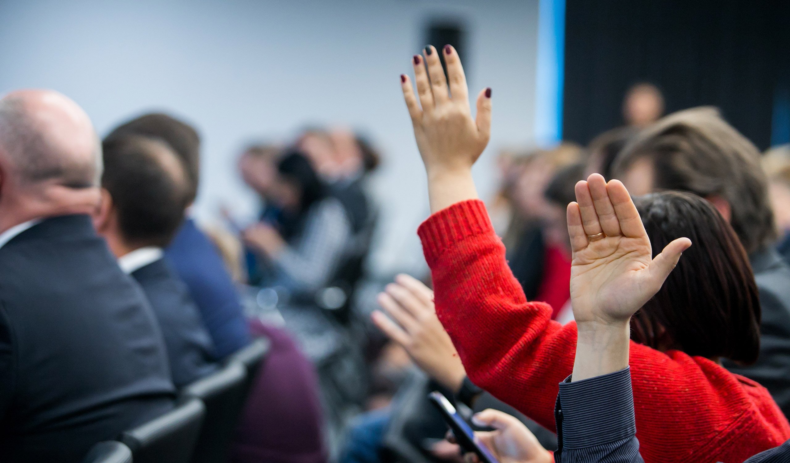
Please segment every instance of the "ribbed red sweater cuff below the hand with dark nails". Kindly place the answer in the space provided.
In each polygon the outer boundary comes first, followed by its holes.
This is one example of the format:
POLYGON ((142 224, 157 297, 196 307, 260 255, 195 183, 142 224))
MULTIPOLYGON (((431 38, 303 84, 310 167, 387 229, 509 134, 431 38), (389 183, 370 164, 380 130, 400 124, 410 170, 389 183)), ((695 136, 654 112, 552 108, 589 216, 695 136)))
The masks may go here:
POLYGON ((429 266, 453 245, 475 235, 494 235, 485 204, 479 199, 461 201, 434 213, 417 229, 429 266))

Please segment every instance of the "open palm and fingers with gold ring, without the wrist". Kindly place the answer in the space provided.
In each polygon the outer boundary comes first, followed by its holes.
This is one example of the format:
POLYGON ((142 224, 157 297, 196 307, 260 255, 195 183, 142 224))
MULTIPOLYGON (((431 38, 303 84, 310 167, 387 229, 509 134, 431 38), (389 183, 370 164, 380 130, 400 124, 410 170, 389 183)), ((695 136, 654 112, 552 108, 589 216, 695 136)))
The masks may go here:
POLYGON ((675 239, 653 258, 634 201, 618 180, 592 174, 577 183, 576 199, 567 210, 574 318, 622 322, 658 292, 691 242, 675 239))

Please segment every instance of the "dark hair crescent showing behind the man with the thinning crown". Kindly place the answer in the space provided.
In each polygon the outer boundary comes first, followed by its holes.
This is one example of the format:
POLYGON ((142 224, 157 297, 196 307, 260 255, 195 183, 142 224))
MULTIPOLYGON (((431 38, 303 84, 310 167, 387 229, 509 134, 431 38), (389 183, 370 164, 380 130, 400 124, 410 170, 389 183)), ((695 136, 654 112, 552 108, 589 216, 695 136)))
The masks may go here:
POLYGON ((200 135, 193 126, 171 115, 153 112, 124 122, 105 140, 126 135, 157 138, 170 145, 186 168, 190 180, 190 202, 194 201, 200 183, 200 135))

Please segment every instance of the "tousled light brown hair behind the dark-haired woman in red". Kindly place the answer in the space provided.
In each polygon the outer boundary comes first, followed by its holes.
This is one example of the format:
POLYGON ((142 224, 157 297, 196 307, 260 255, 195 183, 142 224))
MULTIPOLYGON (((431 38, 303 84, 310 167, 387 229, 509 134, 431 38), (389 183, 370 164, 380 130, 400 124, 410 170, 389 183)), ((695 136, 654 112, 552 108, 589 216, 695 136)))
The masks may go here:
POLYGON ((732 228, 748 253, 776 239, 760 152, 715 108, 678 111, 643 130, 615 160, 615 178, 643 158, 653 163, 654 188, 728 201, 732 228))

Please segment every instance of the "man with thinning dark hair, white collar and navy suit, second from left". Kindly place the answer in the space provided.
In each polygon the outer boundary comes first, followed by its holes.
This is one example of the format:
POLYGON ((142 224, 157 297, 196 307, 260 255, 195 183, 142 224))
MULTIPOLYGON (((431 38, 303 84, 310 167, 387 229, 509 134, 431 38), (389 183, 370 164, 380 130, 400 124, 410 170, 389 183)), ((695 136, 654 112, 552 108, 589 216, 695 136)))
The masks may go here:
POLYGON ((159 320, 173 382, 216 371, 214 346, 186 286, 164 260, 189 201, 186 171, 163 141, 137 135, 103 143, 102 202, 93 218, 119 265, 143 288, 159 320))

